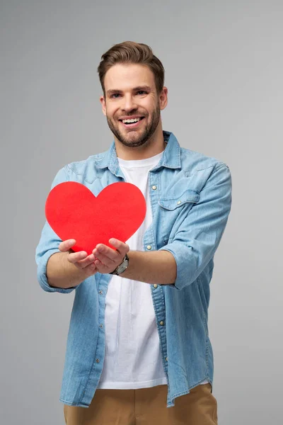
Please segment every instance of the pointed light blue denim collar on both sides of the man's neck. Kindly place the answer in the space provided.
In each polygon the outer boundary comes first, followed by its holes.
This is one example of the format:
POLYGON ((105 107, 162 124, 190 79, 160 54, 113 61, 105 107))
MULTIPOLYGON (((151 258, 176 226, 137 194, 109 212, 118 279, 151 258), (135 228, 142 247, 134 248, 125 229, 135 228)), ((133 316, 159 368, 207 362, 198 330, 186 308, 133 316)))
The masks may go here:
MULTIPOLYGON (((164 149, 163 156, 160 162, 152 170, 157 170, 164 166, 171 169, 180 169, 180 145, 173 132, 163 130, 164 141, 166 142, 166 148, 164 149)), ((95 159, 96 166, 100 169, 108 168, 112 174, 119 176, 119 162, 117 159, 115 142, 113 140, 108 151, 105 152, 103 158, 95 159)))

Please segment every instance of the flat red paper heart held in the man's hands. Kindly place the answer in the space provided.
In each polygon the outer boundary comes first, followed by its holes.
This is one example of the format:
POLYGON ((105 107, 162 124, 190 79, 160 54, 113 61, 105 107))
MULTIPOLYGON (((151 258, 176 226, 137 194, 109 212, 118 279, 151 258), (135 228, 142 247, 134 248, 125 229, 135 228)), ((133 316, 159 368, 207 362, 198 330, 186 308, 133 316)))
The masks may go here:
POLYGON ((54 186, 45 203, 47 222, 64 241, 76 239, 74 251, 89 254, 111 237, 126 242, 146 215, 146 200, 132 183, 112 183, 98 196, 83 184, 66 181, 54 186))

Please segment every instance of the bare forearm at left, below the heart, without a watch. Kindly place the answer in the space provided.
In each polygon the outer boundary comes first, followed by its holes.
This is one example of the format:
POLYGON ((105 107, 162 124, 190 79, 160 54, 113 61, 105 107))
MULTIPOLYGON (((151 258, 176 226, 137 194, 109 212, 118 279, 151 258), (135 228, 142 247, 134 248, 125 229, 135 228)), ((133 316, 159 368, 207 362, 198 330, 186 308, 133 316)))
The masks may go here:
POLYGON ((47 280, 54 288, 71 288, 79 285, 86 278, 85 271, 70 263, 67 256, 67 252, 57 252, 50 256, 47 262, 47 280))

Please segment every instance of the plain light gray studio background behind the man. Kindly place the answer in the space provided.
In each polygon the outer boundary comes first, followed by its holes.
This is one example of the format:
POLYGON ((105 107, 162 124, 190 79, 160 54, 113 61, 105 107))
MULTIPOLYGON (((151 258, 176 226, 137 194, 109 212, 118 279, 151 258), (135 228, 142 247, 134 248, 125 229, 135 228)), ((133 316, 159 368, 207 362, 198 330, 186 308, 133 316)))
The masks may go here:
POLYGON ((64 424, 74 293, 40 288, 35 247, 54 175, 112 142, 96 69, 125 40, 166 69, 163 129, 233 176, 209 308, 219 424, 282 424, 282 12, 272 0, 1 1, 1 424, 64 424))

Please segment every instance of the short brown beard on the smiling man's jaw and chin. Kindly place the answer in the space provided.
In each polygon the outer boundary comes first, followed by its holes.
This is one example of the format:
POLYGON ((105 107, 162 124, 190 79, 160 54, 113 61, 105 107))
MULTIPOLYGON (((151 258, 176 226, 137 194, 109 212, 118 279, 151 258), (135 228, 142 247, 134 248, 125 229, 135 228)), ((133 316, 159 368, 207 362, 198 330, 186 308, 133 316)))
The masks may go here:
MULTIPOLYGON (((132 115, 135 114, 137 115, 137 111, 132 113, 132 115)), ((129 117, 130 116, 131 115, 129 115, 129 117)), ((160 107, 159 104, 157 104, 154 112, 151 115, 151 119, 148 120, 143 130, 128 130, 126 135, 123 135, 123 133, 120 131, 119 123, 116 124, 116 122, 109 118, 108 115, 106 115, 106 118, 110 130, 112 131, 113 135, 117 137, 117 140, 119 140, 127 147, 139 147, 144 145, 148 140, 150 140, 151 136, 154 135, 160 120, 160 107)), ((144 119, 146 119, 146 116, 144 119)))

